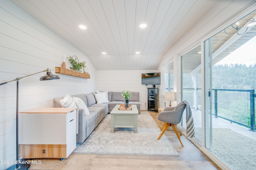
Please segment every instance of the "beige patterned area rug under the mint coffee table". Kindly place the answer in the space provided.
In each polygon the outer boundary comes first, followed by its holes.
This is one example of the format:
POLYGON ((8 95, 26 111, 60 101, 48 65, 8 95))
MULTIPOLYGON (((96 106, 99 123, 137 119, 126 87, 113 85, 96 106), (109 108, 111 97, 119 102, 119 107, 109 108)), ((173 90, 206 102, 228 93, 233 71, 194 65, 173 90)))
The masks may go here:
POLYGON ((163 135, 157 140, 160 129, 148 111, 138 115, 138 133, 134 128, 111 129, 111 115, 108 114, 94 129, 84 143, 77 144, 76 154, 122 154, 178 156, 168 138, 163 135))

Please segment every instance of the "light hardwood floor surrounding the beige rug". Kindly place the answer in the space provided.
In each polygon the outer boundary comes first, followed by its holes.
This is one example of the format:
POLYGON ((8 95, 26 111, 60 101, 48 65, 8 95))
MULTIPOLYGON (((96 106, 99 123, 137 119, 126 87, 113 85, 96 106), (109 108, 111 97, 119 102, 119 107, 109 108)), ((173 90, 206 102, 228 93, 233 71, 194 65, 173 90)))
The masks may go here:
MULTIPOLYGON (((158 113, 150 112, 156 120, 158 113)), ((159 131, 160 133, 160 131, 159 131)), ((34 159, 41 164, 31 164, 31 170, 220 170, 203 152, 186 137, 181 136, 184 147, 180 145, 174 131, 166 131, 180 156, 134 156, 71 154, 62 161, 58 159, 34 159)))

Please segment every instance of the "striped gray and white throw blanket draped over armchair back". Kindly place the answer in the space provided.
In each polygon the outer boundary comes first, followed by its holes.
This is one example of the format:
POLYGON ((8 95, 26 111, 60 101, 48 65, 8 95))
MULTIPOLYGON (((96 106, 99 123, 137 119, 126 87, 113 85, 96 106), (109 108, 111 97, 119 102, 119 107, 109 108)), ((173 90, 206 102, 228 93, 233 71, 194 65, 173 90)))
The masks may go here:
POLYGON ((189 106, 188 101, 183 101, 186 104, 186 124, 187 124, 187 137, 192 138, 195 137, 195 129, 194 129, 194 120, 192 116, 192 111, 189 106))

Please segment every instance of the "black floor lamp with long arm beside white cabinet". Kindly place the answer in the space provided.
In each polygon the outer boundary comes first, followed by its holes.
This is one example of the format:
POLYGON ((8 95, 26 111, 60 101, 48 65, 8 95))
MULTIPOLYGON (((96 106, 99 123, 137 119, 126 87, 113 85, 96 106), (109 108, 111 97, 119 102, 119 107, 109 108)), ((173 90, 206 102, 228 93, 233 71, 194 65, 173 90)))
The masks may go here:
MULTIPOLYGON (((59 76, 53 75, 49 68, 47 68, 46 70, 40 71, 40 72, 45 72, 45 71, 46 71, 46 75, 40 77, 40 81, 60 79, 59 76)), ((38 74, 40 72, 36 72, 34 74, 38 74)), ((13 82, 13 81, 17 82, 17 94, 16 94, 16 164, 11 166, 7 170, 27 170, 30 167, 30 164, 19 164, 19 131, 18 131, 18 125, 19 125, 18 124, 19 123, 19 81, 22 78, 32 76, 34 74, 30 74, 30 75, 27 75, 27 76, 24 76, 24 77, 15 78, 14 80, 10 80, 8 82, 3 82, 3 83, 0 84, 0 86, 1 86, 3 84, 9 83, 9 82, 13 82)))

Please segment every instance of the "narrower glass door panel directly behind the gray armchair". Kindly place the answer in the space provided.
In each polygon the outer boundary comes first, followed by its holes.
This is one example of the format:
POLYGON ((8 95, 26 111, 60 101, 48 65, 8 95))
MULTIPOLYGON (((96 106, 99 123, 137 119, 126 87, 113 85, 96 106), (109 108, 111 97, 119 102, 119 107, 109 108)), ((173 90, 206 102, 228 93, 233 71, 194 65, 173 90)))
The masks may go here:
MULTIPOLYGON (((187 100, 192 108, 196 138, 202 141, 202 101, 201 101, 201 46, 182 55, 182 101, 187 100)), ((182 127, 186 129, 186 114, 183 114, 182 127)))

